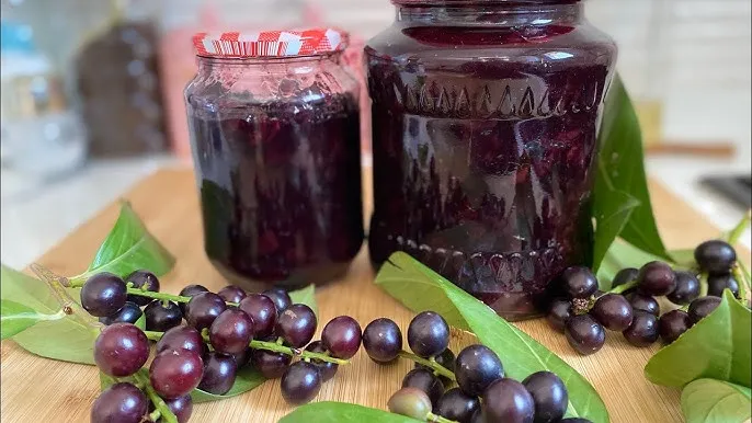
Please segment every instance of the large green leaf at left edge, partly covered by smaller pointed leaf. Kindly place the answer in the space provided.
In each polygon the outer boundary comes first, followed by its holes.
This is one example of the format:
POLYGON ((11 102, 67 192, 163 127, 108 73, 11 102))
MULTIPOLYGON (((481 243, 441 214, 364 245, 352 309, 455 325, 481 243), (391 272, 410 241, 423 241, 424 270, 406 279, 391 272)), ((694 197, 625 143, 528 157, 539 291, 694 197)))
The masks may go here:
MULTIPOLYGON (((22 304, 44 315, 55 315, 60 310, 60 304, 47 284, 5 265, 0 267, 0 297, 3 300, 22 304)), ((68 291, 76 295, 72 289, 68 291)), ((94 364, 92 352, 98 331, 92 325, 96 320, 81 308, 76 307, 75 312, 81 320, 66 317, 41 321, 18 333, 13 341, 43 357, 94 364), (92 325, 84 324, 86 321, 90 321, 92 325)))

